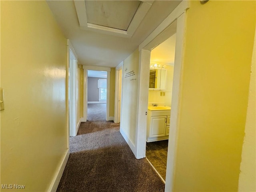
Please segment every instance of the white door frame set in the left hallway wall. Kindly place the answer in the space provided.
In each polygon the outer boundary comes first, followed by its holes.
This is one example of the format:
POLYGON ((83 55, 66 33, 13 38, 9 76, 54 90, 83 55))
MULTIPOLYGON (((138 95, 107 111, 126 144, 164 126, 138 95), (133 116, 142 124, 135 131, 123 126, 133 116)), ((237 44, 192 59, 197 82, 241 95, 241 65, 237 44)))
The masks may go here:
POLYGON ((68 45, 68 119, 69 119, 69 136, 76 136, 78 128, 76 126, 77 116, 77 55, 69 40, 68 45))

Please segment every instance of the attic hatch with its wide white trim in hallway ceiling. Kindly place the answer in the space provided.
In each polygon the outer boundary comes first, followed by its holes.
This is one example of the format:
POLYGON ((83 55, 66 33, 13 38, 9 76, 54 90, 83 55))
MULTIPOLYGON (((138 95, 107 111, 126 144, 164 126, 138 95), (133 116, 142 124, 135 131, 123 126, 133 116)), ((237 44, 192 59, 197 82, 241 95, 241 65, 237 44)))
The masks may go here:
POLYGON ((80 28, 132 37, 153 0, 74 0, 80 28))

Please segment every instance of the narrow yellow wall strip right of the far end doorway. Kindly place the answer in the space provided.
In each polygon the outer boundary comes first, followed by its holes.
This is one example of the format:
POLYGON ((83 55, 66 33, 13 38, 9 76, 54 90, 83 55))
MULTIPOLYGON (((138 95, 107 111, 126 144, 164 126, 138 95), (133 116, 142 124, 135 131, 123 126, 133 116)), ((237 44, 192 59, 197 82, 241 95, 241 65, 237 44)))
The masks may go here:
POLYGON ((116 68, 111 68, 110 71, 110 100, 109 100, 109 116, 114 117, 115 111, 115 82, 116 68))

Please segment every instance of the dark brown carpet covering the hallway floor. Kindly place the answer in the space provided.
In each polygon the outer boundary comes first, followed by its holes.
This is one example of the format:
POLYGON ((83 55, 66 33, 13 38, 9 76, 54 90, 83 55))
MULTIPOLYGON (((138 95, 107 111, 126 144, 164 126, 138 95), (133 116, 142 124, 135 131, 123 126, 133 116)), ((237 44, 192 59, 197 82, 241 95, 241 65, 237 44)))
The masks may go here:
POLYGON ((163 192, 146 158, 137 160, 113 122, 81 123, 57 192, 163 192))

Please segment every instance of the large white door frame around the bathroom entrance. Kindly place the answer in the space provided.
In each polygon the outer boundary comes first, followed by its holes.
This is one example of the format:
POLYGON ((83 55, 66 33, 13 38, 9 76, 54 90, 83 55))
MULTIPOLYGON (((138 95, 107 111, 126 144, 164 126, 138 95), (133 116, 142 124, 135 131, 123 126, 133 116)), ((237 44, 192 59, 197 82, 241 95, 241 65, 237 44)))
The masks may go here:
POLYGON ((150 68, 150 52, 168 37, 176 32, 176 48, 174 62, 174 79, 172 90, 172 110, 170 119, 170 134, 166 168, 165 191, 172 191, 173 174, 175 168, 176 140, 178 135, 180 86, 182 62, 184 54, 184 31, 188 1, 182 1, 172 13, 146 38, 139 46, 139 86, 138 107, 136 121, 136 158, 146 156, 146 127, 148 109, 148 79, 150 68), (142 70, 143 69, 143 70, 142 70))

